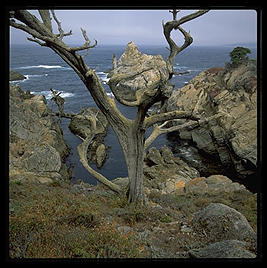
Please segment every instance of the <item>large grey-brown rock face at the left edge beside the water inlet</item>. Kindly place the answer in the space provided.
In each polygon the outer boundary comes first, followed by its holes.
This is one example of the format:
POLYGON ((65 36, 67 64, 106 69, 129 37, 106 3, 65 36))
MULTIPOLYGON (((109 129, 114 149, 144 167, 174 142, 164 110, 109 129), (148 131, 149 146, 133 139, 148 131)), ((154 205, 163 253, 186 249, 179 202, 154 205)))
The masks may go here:
POLYGON ((42 95, 10 85, 9 176, 16 181, 53 182, 68 178, 68 148, 42 95))

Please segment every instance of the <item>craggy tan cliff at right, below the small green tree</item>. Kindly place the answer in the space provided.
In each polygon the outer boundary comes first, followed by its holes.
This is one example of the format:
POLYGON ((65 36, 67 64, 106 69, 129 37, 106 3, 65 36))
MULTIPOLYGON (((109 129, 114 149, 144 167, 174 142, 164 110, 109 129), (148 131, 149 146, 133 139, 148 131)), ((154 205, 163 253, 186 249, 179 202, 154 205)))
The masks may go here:
POLYGON ((183 88, 174 91, 169 111, 191 110, 202 118, 222 116, 195 129, 179 132, 208 155, 234 167, 241 178, 257 165, 257 74, 249 60, 236 68, 215 67, 201 72, 183 88))

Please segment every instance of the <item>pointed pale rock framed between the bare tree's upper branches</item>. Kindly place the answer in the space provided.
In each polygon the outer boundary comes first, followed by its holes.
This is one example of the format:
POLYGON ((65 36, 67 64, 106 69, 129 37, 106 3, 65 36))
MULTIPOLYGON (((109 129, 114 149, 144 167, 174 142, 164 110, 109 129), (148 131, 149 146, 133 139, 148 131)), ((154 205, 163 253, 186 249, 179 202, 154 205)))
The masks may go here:
POLYGON ((162 56, 143 54, 130 42, 115 69, 109 73, 108 84, 117 99, 136 101, 137 95, 157 88, 161 81, 168 80, 168 76, 162 56))

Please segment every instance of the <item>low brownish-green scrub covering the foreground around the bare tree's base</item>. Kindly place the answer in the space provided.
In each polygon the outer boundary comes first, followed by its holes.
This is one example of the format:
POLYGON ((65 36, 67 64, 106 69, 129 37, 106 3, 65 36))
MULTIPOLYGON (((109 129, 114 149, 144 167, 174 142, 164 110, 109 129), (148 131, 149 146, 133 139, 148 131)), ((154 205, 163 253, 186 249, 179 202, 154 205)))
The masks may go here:
POLYGON ((151 191, 149 206, 132 206, 124 195, 102 185, 90 191, 75 189, 64 182, 10 181, 11 258, 151 257, 142 233, 150 235, 153 247, 169 254, 205 246, 207 237, 185 236, 179 228, 174 232, 173 223, 186 221, 190 226, 193 214, 212 202, 237 209, 257 231, 257 197, 246 192, 179 195, 151 191))

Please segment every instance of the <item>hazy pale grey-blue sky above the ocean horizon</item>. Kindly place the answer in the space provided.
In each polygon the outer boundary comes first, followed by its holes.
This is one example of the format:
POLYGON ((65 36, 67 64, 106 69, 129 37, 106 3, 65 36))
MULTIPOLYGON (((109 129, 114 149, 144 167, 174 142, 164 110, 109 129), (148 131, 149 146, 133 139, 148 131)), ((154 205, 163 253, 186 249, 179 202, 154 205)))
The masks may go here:
MULTIPOLYGON (((194 11, 182 10, 178 19, 194 11)), ((38 16, 36 11, 31 12, 38 16)), ((72 29, 73 35, 64 38, 68 44, 84 42, 82 27, 89 39, 92 42, 96 39, 99 45, 125 45, 130 41, 137 45, 166 45, 161 22, 172 19, 168 10, 56 10, 56 15, 64 31, 72 29)), ((256 43, 257 13, 255 10, 211 10, 183 24, 183 28, 190 30, 196 46, 256 43)), ((29 35, 12 28, 10 42, 29 43, 26 36, 29 35)), ((172 36, 178 44, 183 41, 176 31, 172 36)))

